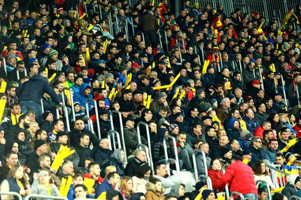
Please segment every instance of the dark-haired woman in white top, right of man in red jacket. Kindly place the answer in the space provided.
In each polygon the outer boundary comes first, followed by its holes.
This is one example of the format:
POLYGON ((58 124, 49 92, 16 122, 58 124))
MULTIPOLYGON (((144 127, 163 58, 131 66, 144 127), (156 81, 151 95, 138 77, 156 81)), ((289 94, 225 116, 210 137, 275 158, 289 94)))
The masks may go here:
POLYGON ((254 173, 254 181, 256 182, 257 180, 265 180, 267 182, 271 191, 275 189, 275 186, 272 182, 271 177, 268 175, 266 166, 264 161, 262 160, 256 160, 252 166, 253 173, 254 173))

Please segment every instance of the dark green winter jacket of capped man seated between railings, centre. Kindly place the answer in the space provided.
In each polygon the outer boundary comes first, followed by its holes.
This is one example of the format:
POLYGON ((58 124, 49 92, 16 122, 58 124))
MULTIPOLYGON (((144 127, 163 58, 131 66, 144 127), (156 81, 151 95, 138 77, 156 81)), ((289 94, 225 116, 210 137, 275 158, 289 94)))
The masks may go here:
MULTIPOLYGON (((126 148, 126 154, 130 155, 134 150, 136 150, 138 142, 138 133, 134 128, 123 126, 124 142, 126 148)), ((147 141, 144 137, 141 137, 141 143, 147 145, 147 141)))

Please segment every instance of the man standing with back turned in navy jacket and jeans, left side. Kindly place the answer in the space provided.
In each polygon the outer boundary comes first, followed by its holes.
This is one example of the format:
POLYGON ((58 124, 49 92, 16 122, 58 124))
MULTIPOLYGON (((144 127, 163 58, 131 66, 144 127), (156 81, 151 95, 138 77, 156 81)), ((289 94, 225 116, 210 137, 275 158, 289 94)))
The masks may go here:
POLYGON ((16 89, 16 93, 19 97, 21 111, 23 113, 28 110, 35 111, 38 123, 43 121, 41 98, 44 93, 48 93, 57 105, 62 104, 57 93, 49 85, 48 81, 39 74, 34 75, 30 80, 20 84, 16 89))

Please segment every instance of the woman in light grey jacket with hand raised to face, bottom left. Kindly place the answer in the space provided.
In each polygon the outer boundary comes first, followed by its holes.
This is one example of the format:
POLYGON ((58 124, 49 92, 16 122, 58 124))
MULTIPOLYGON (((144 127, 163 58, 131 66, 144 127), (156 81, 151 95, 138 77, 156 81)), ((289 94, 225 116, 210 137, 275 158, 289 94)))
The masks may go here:
MULTIPOLYGON (((32 184, 32 193, 49 195, 49 196, 61 196, 60 191, 54 183, 50 183, 51 176, 50 170, 41 169, 39 173, 34 173, 34 182, 32 184)), ((36 198, 42 200, 42 198, 36 198)))

